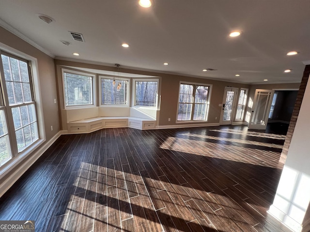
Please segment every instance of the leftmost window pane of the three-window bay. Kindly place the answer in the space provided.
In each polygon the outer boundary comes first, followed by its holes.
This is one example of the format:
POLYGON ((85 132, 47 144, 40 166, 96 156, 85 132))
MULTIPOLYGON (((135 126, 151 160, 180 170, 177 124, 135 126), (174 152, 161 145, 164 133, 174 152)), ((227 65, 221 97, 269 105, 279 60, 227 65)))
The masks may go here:
POLYGON ((65 106, 93 105, 94 75, 63 71, 65 106))

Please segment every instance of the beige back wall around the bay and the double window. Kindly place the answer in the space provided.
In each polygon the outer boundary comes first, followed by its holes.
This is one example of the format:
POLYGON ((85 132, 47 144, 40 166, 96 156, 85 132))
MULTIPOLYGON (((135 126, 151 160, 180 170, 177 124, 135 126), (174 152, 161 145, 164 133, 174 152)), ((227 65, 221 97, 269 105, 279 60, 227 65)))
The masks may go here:
MULTIPOLYGON (((59 83, 58 85, 59 96, 58 97, 60 101, 60 109, 64 109, 63 89, 62 89, 62 72, 61 72, 61 69, 63 66, 115 71, 114 67, 95 65, 95 64, 86 64, 86 63, 73 62, 73 61, 65 61, 65 60, 58 60, 58 59, 55 60, 55 65, 56 65, 56 70, 57 70, 57 80, 59 83)), ((219 118, 220 118, 222 108, 218 106, 218 104, 222 104, 223 102, 223 94, 224 94, 224 89, 226 86, 236 87, 239 89, 238 92, 240 91, 241 87, 242 88, 250 87, 247 84, 238 84, 238 83, 232 83, 232 82, 216 81, 216 80, 210 80, 210 79, 194 78, 194 77, 172 75, 172 74, 165 74, 165 73, 155 73, 155 72, 138 71, 138 70, 130 70, 130 69, 122 69, 121 72, 160 77, 160 83, 161 83, 160 89, 159 89, 160 112, 159 112, 159 118, 158 118, 159 126, 174 126, 174 125, 186 126, 190 124, 190 123, 177 123, 176 124, 180 81, 212 85, 208 123, 219 123, 219 118), (217 119, 215 119, 216 117, 217 119), (168 121, 168 118, 171 118, 171 121, 168 121)), ((65 129, 64 120, 65 120, 65 116, 62 116, 63 129, 65 129)), ((196 122, 194 123, 197 124, 196 122)))

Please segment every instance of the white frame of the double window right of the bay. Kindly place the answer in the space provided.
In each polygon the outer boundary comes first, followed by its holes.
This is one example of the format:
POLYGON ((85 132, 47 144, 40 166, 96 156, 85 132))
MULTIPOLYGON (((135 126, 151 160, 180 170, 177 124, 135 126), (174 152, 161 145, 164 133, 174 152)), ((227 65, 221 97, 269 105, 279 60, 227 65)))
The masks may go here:
MULTIPOLYGON (((206 84, 206 83, 196 83, 196 82, 185 82, 185 81, 180 81, 179 83, 179 92, 178 92, 178 104, 177 104, 177 110, 176 110, 176 120, 175 123, 200 123, 200 122, 207 122, 208 121, 208 116, 209 116, 209 108, 210 108, 210 101, 211 101, 211 93, 212 93, 212 85, 211 84, 206 84), (179 121, 178 120, 178 115, 179 115, 179 98, 180 98, 180 90, 181 90, 181 84, 184 85, 196 85, 196 86, 207 86, 208 87, 208 99, 207 99, 207 110, 206 110, 206 119, 205 120, 184 120, 184 121, 179 121)), ((195 95, 195 92, 193 93, 193 96, 195 95)), ((195 109, 195 99, 193 98, 193 103, 192 103, 192 109, 195 109)), ((191 112, 191 118, 193 118, 194 111, 191 112)))

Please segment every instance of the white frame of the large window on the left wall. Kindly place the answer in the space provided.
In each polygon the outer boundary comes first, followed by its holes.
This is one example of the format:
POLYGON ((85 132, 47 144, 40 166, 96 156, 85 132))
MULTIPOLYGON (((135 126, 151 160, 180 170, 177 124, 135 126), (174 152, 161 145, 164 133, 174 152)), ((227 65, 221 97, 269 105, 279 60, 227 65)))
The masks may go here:
MULTIPOLYGON (((42 105, 42 97, 41 97, 41 89, 40 89, 40 80, 39 80, 39 71, 38 71, 38 61, 37 58, 31 57, 26 53, 20 52, 15 48, 12 48, 4 43, 0 43, 0 53, 1 51, 16 56, 21 59, 25 59, 29 62, 29 66, 31 68, 31 81, 32 81, 32 90, 33 90, 33 99, 35 102, 36 107, 36 116, 37 116, 37 124, 38 124, 38 140, 36 140, 31 145, 27 146, 22 151, 18 152, 17 150, 17 142, 16 142, 16 135, 14 129, 14 122, 12 118, 12 113, 9 112, 12 107, 14 106, 0 106, 1 109, 4 109, 4 114, 6 117, 6 124, 7 129, 9 131, 9 139, 10 139, 10 151, 12 158, 8 160, 6 163, 0 166, 0 178, 4 176, 11 170, 13 170, 19 163, 21 163, 27 156, 29 156, 32 152, 34 152, 40 145, 42 145, 46 141, 46 133, 45 133, 45 126, 44 126, 44 116, 43 116, 43 105, 42 105), (10 116, 11 114, 11 116, 10 116)), ((0 76, 2 80, 4 80, 4 73, 2 69, 2 59, 0 58, 0 76)), ((2 81, 1 81, 2 83, 2 81)), ((3 83, 4 84, 4 83, 3 83)), ((2 84, 1 84, 2 85, 2 84)), ((2 91, 2 89, 1 89, 2 91)), ((7 99, 7 93, 4 91, 2 92, 4 95, 3 102, 7 99)), ((1 100, 1 101, 2 101, 1 100)), ((8 101, 8 100, 7 100, 8 101)))

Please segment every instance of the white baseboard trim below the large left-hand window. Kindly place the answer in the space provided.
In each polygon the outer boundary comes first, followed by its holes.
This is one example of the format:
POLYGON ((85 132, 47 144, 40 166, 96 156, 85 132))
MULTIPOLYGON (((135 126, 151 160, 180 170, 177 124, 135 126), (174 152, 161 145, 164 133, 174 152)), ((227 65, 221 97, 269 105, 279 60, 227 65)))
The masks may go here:
MULTIPOLYGON (((3 176, 5 180, 1 180, 0 184, 0 197, 13 186, 13 184, 24 174, 31 165, 40 158, 40 156, 50 147, 61 135, 63 131, 59 131, 55 134, 49 141, 47 141, 44 145, 42 145, 39 150, 37 150, 34 154, 30 153, 28 156, 23 157, 21 159, 25 160, 22 165, 20 165, 12 174, 8 173, 3 176), (27 159, 27 157, 29 157, 27 159)), ((16 162, 15 165, 12 165, 11 170, 17 166, 20 162, 16 162)))

